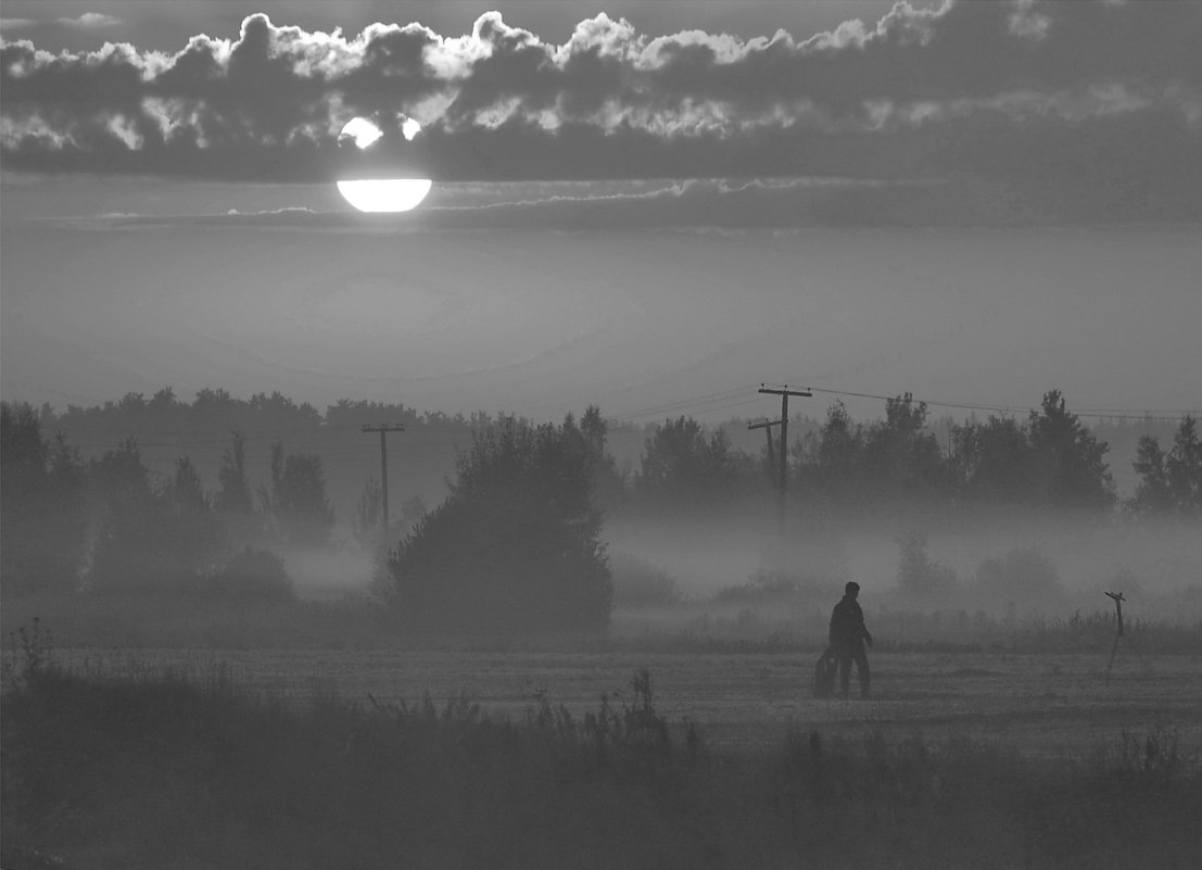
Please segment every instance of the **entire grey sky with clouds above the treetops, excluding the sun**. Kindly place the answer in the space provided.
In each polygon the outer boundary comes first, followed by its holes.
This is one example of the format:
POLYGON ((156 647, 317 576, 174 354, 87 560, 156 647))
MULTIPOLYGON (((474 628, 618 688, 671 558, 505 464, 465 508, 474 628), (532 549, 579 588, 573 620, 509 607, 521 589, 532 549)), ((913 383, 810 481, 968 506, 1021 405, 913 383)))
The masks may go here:
POLYGON ((1202 405, 1202 2, 6 0, 0 36, 5 399, 1202 405), (355 117, 418 209, 341 201, 355 117))

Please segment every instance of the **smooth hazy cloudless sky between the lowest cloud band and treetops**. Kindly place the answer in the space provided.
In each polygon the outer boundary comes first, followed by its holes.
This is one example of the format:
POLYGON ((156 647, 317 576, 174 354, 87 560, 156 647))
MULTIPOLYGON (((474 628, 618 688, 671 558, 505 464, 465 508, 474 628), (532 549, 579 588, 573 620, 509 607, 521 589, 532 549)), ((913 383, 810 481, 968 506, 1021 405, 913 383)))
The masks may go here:
POLYGON ((710 421, 772 415, 764 381, 1019 411, 1053 387, 1082 412, 1198 403, 1191 228, 416 222, 8 225, 4 395, 64 407, 224 387, 633 418, 730 393, 688 409, 710 421))

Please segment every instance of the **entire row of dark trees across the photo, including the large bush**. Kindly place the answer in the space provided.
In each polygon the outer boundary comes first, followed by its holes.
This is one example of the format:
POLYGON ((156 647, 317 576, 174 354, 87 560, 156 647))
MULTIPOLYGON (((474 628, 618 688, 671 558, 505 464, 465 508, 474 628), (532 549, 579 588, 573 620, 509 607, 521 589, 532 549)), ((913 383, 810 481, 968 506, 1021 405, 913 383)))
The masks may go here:
MULTIPOLYGON (((202 416, 212 401, 198 398, 202 416)), ((126 404, 144 410, 155 403, 126 404)), ((310 421, 316 413, 280 399, 266 406, 310 421)), ((361 415, 379 419, 386 411, 338 407, 347 428, 364 422, 361 415)), ((85 460, 60 433, 47 436, 43 419, 44 410, 2 404, 0 558, 10 594, 83 588, 278 600, 290 584, 276 552, 334 540, 319 453, 273 442, 256 485, 243 436, 227 433, 210 491, 188 455, 155 476, 126 436, 85 460)), ((445 501, 427 510, 411 499, 381 546, 371 534, 379 484, 368 481, 352 518, 363 542, 380 548, 385 598, 424 625, 601 625, 612 606, 601 538, 607 512, 737 507, 776 485, 770 459, 779 454, 737 449, 724 430, 689 417, 649 428, 638 467, 629 471, 611 454, 609 424, 596 407, 559 425, 483 415, 471 423, 445 501)), ((921 500, 948 510, 975 501, 1108 517, 1118 506, 1132 518, 1202 519, 1202 445, 1192 417, 1171 446, 1141 440, 1139 484, 1121 502, 1106 453, 1058 391, 1025 419, 952 425, 946 446, 930 430, 927 405, 903 394, 886 401, 883 419, 867 424, 834 403, 822 424, 789 446, 786 463, 796 499, 852 516, 921 500)))

